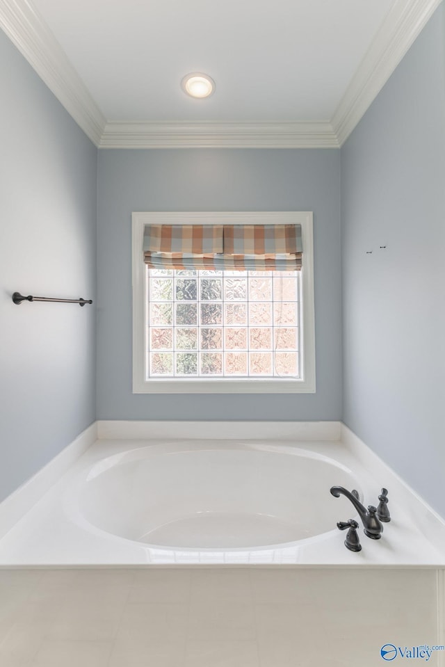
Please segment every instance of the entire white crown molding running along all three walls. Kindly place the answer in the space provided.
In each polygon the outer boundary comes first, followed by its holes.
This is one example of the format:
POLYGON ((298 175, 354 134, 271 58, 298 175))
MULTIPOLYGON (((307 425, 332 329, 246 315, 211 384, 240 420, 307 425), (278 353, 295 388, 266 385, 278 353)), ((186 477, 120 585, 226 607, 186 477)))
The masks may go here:
POLYGON ((331 122, 107 122, 27 0, 0 0, 0 28, 99 148, 339 148, 442 0, 396 0, 331 122))

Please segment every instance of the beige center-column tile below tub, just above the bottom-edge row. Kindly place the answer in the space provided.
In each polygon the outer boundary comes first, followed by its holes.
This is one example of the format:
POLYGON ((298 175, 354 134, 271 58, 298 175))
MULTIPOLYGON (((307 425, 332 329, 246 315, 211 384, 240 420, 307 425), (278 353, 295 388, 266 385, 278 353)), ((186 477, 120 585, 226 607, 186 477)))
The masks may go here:
POLYGON ((246 602, 193 602, 188 621, 191 640, 255 640, 253 605, 246 602))

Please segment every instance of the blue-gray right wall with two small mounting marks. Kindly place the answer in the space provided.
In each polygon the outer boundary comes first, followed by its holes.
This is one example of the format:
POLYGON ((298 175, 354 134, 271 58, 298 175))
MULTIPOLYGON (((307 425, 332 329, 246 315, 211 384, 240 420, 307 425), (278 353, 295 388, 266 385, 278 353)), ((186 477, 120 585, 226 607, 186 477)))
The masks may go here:
POLYGON ((442 4, 341 150, 343 421, 442 515, 444 46, 442 4))

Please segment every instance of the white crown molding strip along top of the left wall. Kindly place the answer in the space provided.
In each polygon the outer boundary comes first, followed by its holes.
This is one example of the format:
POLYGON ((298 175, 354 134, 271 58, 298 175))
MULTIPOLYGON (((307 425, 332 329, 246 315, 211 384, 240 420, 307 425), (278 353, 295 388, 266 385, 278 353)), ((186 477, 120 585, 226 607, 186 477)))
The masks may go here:
POLYGON ((0 0, 0 27, 92 143, 106 119, 47 24, 26 0, 0 0))

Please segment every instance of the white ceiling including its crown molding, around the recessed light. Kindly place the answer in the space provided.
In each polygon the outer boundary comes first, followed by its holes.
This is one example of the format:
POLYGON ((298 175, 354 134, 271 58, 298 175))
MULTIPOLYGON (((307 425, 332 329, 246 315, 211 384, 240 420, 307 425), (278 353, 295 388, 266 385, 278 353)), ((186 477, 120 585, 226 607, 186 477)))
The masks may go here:
POLYGON ((440 1, 0 0, 0 26, 97 145, 334 146, 440 1), (186 96, 188 72, 214 95, 186 96))

